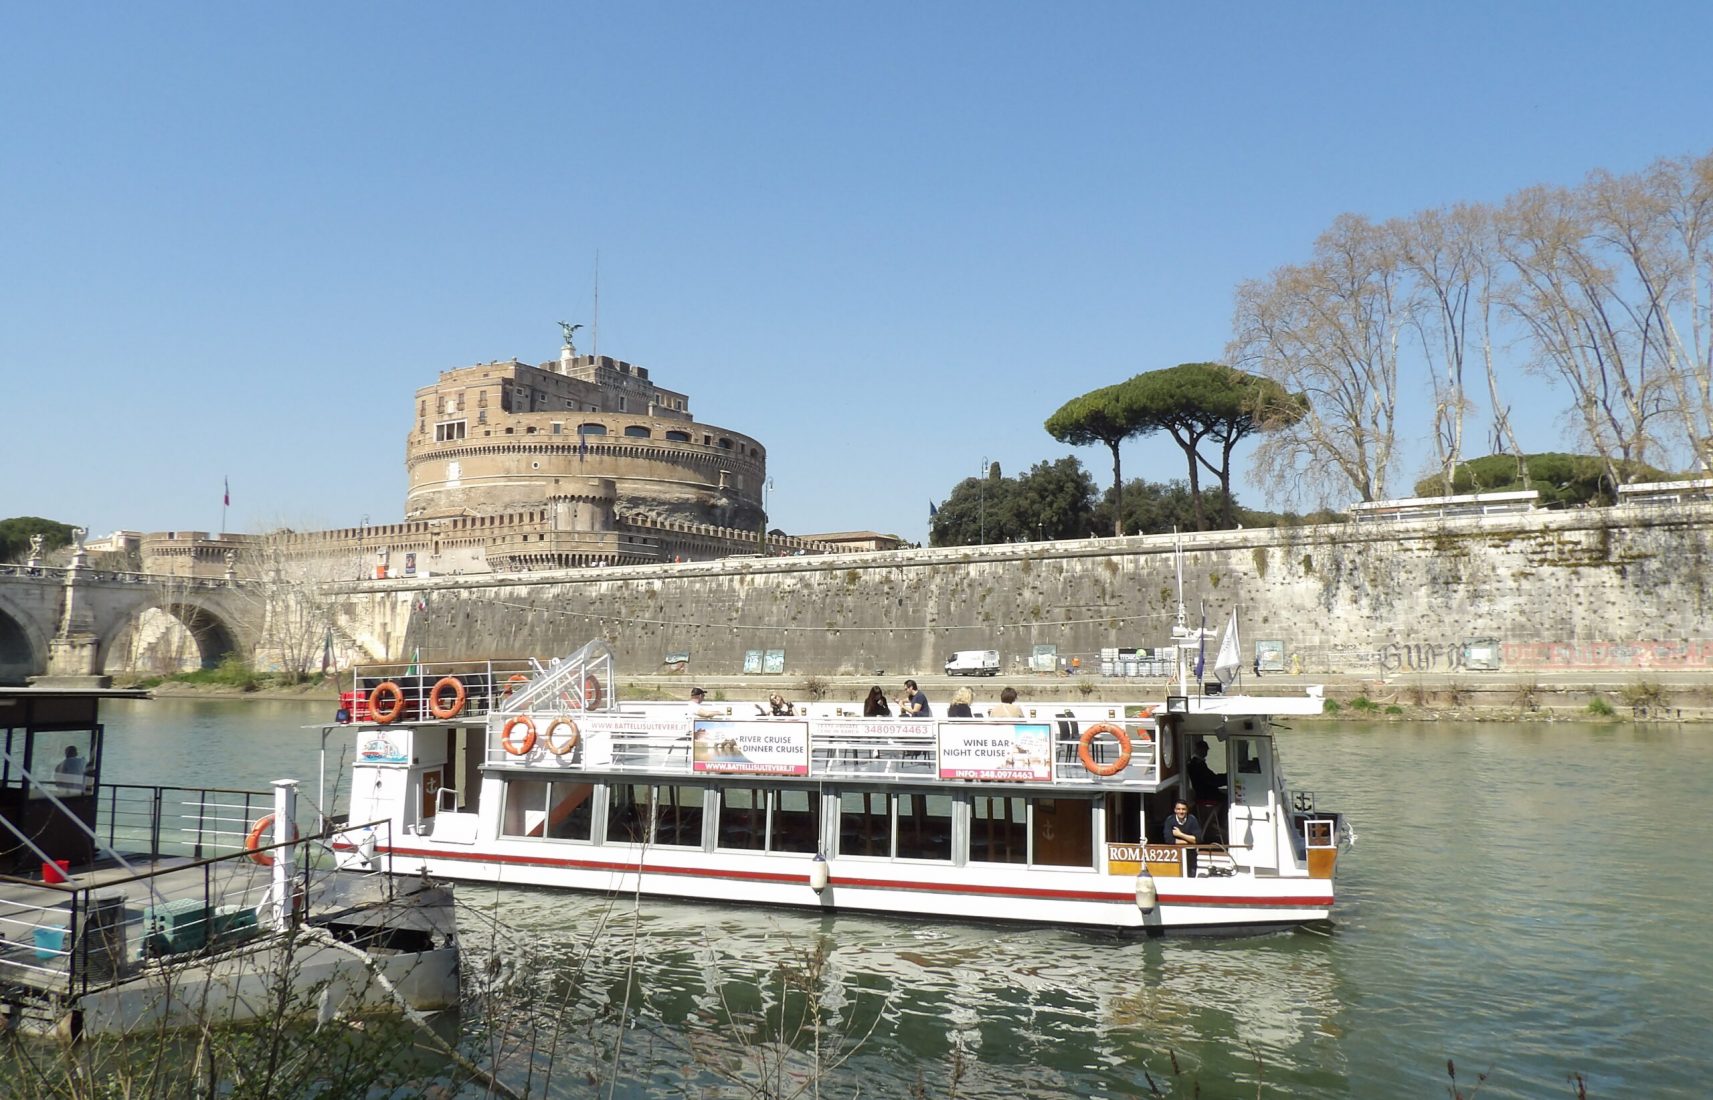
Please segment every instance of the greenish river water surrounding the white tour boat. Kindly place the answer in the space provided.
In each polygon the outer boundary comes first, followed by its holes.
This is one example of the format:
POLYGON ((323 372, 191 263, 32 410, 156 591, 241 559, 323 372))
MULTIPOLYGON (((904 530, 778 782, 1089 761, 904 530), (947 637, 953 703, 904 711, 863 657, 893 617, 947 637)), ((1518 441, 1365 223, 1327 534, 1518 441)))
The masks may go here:
MULTIPOLYGON (((104 778, 289 776, 313 798, 327 709, 110 704, 104 778)), ((822 1097, 1442 1097, 1447 1059, 1465 1091, 1489 1074, 1483 1100, 1569 1097, 1573 1074, 1593 1097, 1713 1088, 1713 730, 1338 723, 1280 754, 1360 836, 1326 932, 1122 941, 461 884, 463 1042, 555 1097, 791 1074, 822 1097)))

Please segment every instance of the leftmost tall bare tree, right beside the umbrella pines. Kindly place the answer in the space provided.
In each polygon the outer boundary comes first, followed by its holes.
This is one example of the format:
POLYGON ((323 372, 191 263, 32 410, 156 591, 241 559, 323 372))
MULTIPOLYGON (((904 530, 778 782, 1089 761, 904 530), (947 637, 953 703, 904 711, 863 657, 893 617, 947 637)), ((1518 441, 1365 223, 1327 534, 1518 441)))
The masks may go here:
POLYGON ((1256 449, 1256 471, 1317 504, 1386 495, 1396 461, 1398 344, 1408 322, 1394 224, 1340 214, 1314 259, 1237 288, 1230 360, 1307 399, 1256 449))

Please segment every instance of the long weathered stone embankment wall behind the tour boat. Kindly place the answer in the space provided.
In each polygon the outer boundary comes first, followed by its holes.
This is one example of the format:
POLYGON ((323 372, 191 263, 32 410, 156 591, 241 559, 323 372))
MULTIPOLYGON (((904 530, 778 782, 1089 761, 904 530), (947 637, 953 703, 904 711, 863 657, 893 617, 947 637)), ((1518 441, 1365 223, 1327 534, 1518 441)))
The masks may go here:
MULTIPOLYGON (((735 673, 783 649, 786 675, 939 672, 954 649, 1036 644, 1098 663, 1168 643, 1172 536, 790 557, 339 586, 367 660, 553 656, 589 637, 620 668, 735 673)), ((1501 668, 1713 668, 1713 504, 1627 505, 1182 536, 1194 627, 1238 608, 1244 660, 1283 646, 1305 675, 1456 673, 1470 643, 1501 668)), ((1209 643, 1208 660, 1213 661, 1209 643)))

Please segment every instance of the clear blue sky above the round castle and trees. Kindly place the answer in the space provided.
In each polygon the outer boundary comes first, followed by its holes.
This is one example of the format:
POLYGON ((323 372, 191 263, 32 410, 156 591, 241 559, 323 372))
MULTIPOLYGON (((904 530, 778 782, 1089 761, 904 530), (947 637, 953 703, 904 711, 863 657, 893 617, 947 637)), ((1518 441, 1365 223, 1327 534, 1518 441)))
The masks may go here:
POLYGON ((397 521, 413 391, 555 356, 600 252, 600 350, 761 439, 774 524, 925 538, 1343 211, 1704 152, 1710 12, 9 5, 0 516, 397 521))

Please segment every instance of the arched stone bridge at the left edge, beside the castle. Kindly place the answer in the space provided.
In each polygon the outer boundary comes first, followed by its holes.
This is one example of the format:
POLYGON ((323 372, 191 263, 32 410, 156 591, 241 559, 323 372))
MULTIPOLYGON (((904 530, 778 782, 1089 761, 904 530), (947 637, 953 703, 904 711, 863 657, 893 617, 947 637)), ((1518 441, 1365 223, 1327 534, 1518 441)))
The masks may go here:
POLYGON ((94 680, 116 639, 144 612, 161 610, 190 634, 202 667, 255 648, 252 600, 224 579, 89 569, 79 548, 69 569, 0 565, 0 684, 29 677, 94 680))

